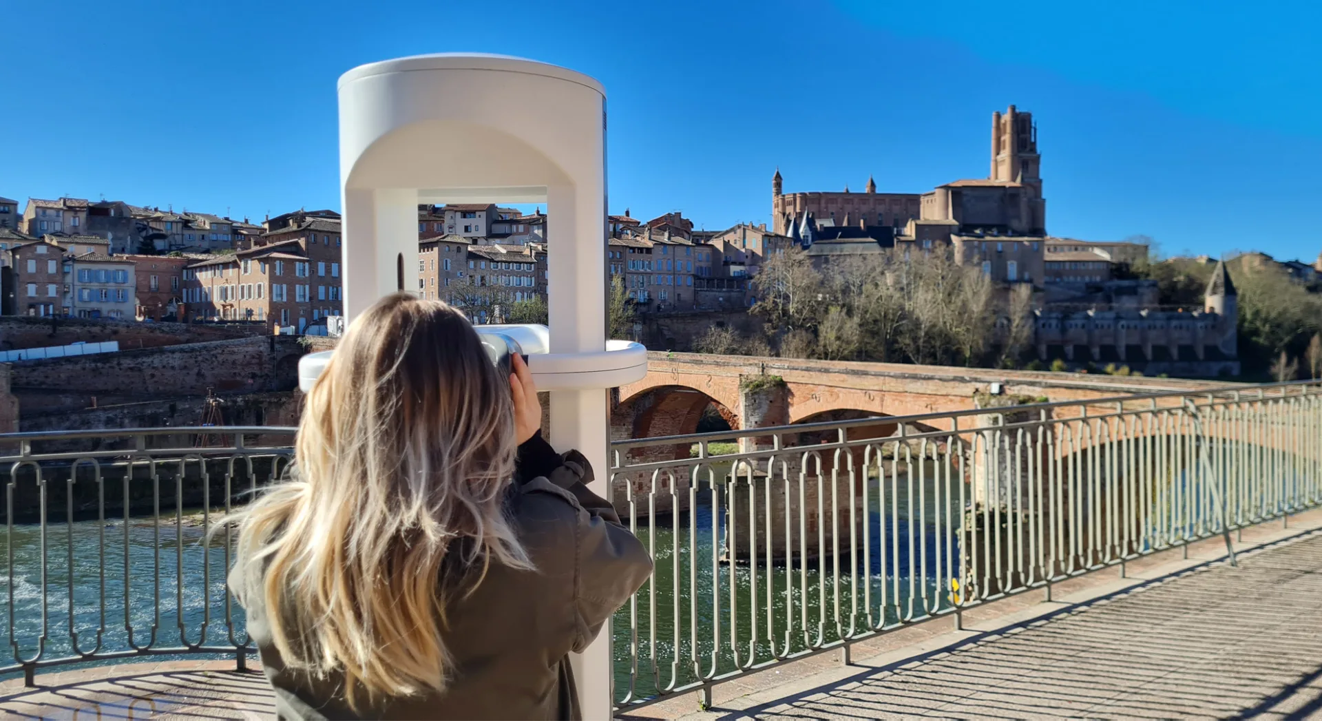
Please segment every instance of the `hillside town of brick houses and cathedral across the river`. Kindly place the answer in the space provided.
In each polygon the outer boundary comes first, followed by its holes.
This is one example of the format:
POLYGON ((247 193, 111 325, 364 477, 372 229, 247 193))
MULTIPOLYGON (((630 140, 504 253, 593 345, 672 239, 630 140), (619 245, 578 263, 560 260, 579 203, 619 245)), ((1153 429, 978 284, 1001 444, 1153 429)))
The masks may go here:
MULTIPOLYGON (((1207 257, 1158 262, 1144 239, 1054 235, 1031 112, 994 112, 989 149, 986 177, 921 192, 883 192, 873 179, 862 191, 787 192, 777 169, 769 228, 705 230, 680 212, 608 216, 604 271, 617 315, 628 320, 615 332, 657 349, 895 360, 871 357, 865 343, 828 348, 826 306, 834 321, 855 325, 862 311, 849 291, 821 288, 843 269, 878 275, 943 259, 968 274, 960 278, 986 283, 978 314, 992 329, 981 343, 1001 352, 902 360, 1233 377, 1243 370, 1233 276, 1270 269, 1301 292, 1317 290, 1322 255, 1307 265, 1252 254, 1228 270, 1207 257), (810 332, 773 320, 776 288, 793 265, 826 279, 814 291, 822 310, 810 332), (772 282, 768 269, 781 275, 772 282), (1171 288, 1187 292, 1174 298, 1171 288), (724 341, 711 340, 717 331, 724 341), (739 337, 755 343, 730 340, 739 337), (1011 343, 1014 353, 1005 351, 1011 343)), ((416 292, 465 308, 475 323, 545 321, 554 226, 554 209, 419 205, 416 292)), ((340 214, 329 209, 251 222, 123 201, 0 197, 0 315, 78 319, 83 328, 184 324, 225 337, 333 336, 341 328, 342 243, 340 214)), ((87 331, 87 340, 94 336, 87 331)), ((0 337, 0 361, 63 353, 32 337, 0 337)))

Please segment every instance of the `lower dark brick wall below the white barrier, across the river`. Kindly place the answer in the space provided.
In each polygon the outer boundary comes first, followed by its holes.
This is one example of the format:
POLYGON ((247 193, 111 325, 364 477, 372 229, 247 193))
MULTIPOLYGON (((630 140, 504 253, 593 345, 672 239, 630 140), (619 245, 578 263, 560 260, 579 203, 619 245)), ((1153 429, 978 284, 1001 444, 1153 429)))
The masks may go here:
POLYGON ((304 353, 293 336, 256 336, 19 361, 12 386, 25 418, 106 402, 293 390, 304 353), (104 397, 100 402, 97 397, 104 397))

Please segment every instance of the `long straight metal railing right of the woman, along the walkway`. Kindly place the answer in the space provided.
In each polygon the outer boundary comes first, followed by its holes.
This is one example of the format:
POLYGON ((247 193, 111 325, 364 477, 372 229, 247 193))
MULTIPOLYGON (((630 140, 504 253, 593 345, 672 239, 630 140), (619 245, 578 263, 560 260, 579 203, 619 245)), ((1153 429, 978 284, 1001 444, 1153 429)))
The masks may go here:
MULTIPOLYGON (((1318 505, 1322 384, 612 443, 636 708, 1318 505)), ((1187 548, 1186 548, 1187 553, 1187 548)), ((1122 570, 1122 569, 1121 569, 1122 570)))

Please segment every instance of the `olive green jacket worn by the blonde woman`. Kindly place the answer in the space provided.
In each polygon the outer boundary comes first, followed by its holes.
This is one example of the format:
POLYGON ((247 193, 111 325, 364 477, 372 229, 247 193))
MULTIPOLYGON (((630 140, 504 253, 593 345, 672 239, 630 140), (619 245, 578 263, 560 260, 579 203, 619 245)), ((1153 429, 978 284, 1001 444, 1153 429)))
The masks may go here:
POLYGON ((444 639, 455 664, 449 687, 353 713, 342 677, 287 669, 263 609, 249 607, 249 632, 280 718, 582 717, 568 654, 592 643, 652 573, 652 561, 611 504, 587 489, 592 471, 580 454, 559 456, 538 435, 520 447, 520 466, 509 508, 537 570, 493 564, 472 594, 447 609, 444 639), (527 467, 546 472, 534 476, 527 467))

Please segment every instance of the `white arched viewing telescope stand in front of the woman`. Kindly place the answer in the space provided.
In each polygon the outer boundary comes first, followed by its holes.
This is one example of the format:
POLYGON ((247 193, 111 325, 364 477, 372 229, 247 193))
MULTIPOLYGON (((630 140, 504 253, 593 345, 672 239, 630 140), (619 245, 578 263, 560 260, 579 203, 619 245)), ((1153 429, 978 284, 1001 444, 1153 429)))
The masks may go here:
MULTIPOLYGON (((354 67, 338 90, 346 320, 418 288, 419 204, 546 204, 550 327, 477 329, 527 355, 538 389, 550 390, 551 445, 582 451, 596 468, 592 489, 609 497, 608 389, 642 378, 648 359, 642 345, 605 337, 602 83, 527 60, 438 54, 354 67)), ((327 359, 299 362, 304 389, 327 359)), ((572 659, 584 718, 611 717, 609 646, 603 634, 572 659)))

